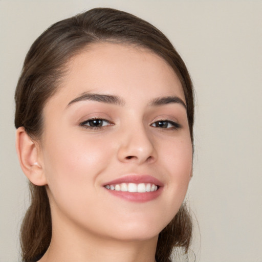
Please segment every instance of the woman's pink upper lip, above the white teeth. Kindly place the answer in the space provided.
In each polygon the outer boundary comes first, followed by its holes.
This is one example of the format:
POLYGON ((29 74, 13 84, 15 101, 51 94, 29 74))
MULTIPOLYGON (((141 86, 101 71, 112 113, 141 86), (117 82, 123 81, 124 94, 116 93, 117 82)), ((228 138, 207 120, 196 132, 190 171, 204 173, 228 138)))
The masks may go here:
POLYGON ((115 185, 115 184, 121 184, 121 183, 135 183, 135 184, 151 183, 151 184, 155 184, 157 186, 163 186, 164 185, 161 181, 150 176, 149 174, 127 174, 123 177, 109 181, 109 182, 103 184, 103 186, 115 185))

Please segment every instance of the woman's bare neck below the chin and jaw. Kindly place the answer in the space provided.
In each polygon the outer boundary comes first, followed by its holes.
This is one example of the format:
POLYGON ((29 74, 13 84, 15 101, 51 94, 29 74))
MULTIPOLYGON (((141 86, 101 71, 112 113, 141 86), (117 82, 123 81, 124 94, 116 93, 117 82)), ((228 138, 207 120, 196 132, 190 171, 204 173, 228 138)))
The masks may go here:
POLYGON ((155 262, 158 236, 145 240, 112 239, 62 223, 53 229, 50 247, 39 262, 155 262))

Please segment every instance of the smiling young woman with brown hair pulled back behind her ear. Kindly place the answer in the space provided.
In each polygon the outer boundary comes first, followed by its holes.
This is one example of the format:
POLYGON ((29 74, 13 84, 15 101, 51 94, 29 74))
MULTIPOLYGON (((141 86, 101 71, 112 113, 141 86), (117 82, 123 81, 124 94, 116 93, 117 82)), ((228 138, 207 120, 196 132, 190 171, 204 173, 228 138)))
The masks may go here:
POLYGON ((96 8, 33 43, 16 93, 30 181, 23 261, 169 261, 188 251, 193 90, 146 21, 96 8))

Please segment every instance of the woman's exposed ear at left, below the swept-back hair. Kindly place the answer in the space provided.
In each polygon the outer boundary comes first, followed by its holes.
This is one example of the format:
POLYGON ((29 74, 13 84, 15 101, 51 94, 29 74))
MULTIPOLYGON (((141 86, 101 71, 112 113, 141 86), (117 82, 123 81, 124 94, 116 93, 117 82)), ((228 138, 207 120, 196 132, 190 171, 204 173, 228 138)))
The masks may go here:
POLYGON ((20 166, 31 183, 47 185, 39 143, 31 139, 24 127, 16 130, 15 146, 20 166))

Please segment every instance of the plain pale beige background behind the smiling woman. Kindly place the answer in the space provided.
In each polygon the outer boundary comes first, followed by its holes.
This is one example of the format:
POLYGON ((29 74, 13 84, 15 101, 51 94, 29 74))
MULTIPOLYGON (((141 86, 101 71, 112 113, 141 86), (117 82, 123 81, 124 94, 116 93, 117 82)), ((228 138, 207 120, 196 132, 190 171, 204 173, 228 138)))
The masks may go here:
POLYGON ((196 261, 262 262, 262 1, 237 0, 0 0, 0 262, 18 260, 28 198, 13 126, 24 57, 48 26, 97 6, 156 25, 193 78, 196 150, 188 199, 201 232, 196 227, 196 261))

